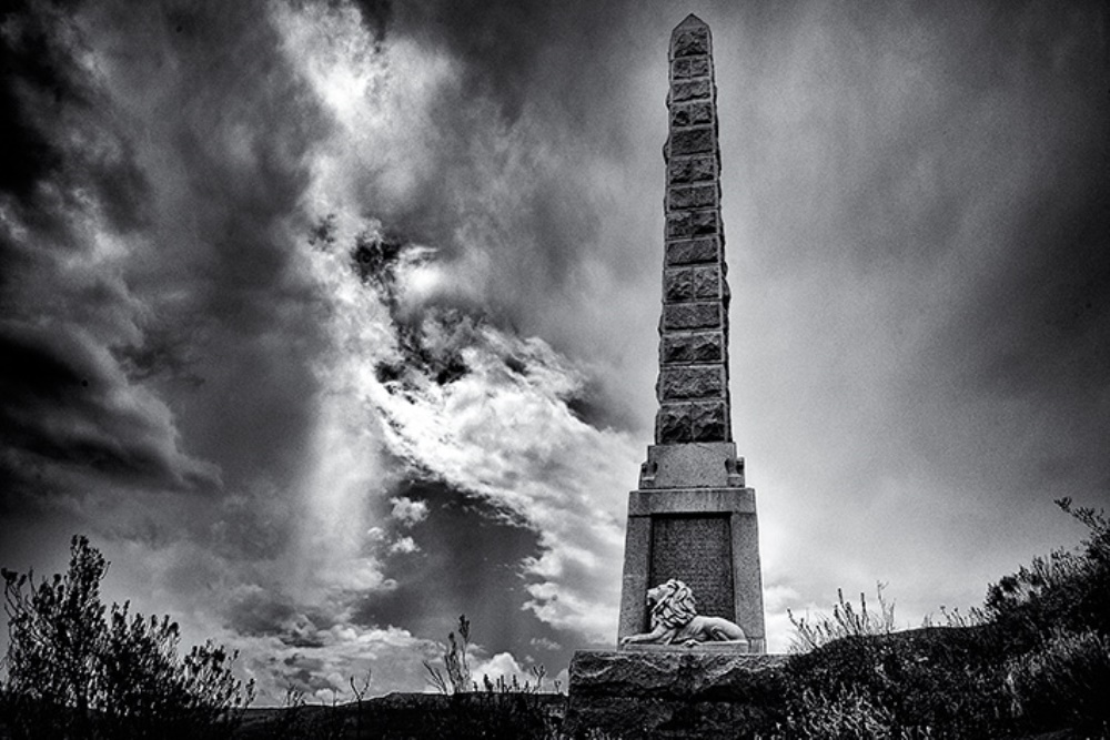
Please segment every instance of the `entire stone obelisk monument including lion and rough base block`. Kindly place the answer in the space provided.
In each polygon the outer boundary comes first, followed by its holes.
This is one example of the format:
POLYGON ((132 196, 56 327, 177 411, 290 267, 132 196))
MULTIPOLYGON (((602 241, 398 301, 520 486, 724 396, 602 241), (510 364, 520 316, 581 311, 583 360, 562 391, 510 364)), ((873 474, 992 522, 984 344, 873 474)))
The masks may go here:
POLYGON ((670 36, 655 444, 628 495, 617 650, 571 662, 568 737, 731 738, 781 691, 755 491, 733 443, 709 28, 670 36))

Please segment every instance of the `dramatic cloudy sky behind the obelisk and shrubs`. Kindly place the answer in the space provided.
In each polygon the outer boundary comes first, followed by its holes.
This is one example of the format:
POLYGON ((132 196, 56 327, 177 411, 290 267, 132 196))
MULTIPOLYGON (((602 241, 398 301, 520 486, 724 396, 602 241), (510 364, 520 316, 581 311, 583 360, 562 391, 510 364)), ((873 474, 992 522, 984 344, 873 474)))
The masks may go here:
POLYGON ((689 12, 769 649, 837 589, 916 627, 1078 544, 1106 2, 14 0, 0 564, 88 535, 262 704, 427 690, 461 614, 476 676, 565 687, 616 637, 689 12))

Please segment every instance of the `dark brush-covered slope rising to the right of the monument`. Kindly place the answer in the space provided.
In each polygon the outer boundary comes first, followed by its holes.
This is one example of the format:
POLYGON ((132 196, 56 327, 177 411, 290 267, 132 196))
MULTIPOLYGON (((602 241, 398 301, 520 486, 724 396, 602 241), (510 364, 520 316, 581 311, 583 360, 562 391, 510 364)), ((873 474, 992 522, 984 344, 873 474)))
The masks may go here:
POLYGON ((1110 737, 1110 521, 1057 501, 1089 535, 987 590, 981 609, 895 632, 892 611, 844 597, 794 619, 808 652, 786 666, 775 738, 1110 737))

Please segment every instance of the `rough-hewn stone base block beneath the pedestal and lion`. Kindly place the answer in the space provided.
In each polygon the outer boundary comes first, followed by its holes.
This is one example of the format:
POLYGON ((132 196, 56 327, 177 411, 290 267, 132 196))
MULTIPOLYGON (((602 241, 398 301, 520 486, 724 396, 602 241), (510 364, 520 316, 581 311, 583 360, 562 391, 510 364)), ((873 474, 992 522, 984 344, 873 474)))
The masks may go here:
POLYGON ((777 706, 786 656, 674 647, 578 650, 566 737, 735 738, 777 706))

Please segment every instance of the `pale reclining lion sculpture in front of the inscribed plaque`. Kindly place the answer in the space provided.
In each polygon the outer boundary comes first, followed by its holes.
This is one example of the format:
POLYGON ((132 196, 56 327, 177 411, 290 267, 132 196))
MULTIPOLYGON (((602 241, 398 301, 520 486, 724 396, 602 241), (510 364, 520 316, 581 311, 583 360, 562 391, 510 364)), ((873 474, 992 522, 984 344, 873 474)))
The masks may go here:
POLYGON ((657 645, 685 645, 699 642, 744 642, 747 638, 739 625, 722 617, 704 617, 694 606, 689 586, 672 578, 647 592, 652 610, 652 631, 628 635, 620 645, 654 642, 657 645))

